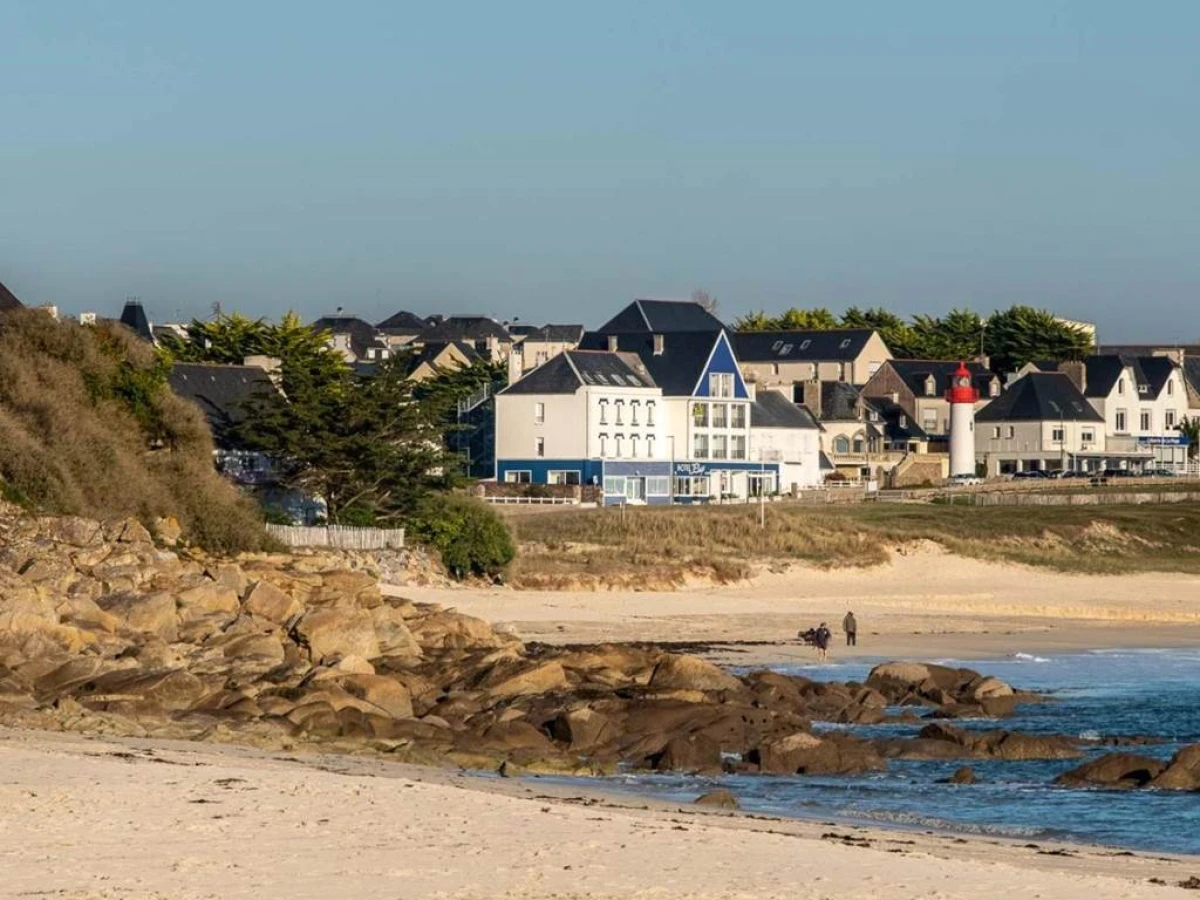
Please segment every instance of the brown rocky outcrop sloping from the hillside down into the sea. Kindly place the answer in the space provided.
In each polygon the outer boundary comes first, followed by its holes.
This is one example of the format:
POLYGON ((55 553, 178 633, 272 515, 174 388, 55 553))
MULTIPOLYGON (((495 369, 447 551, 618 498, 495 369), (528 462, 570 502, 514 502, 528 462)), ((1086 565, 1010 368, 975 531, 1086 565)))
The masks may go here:
MULTIPOLYGON (((1067 754, 1052 738, 944 722, 907 745, 812 732, 814 721, 917 721, 896 706, 1021 700, 967 670, 889 664, 866 684, 839 684, 736 677, 654 647, 527 647, 481 619, 383 596, 343 554, 216 559, 179 546, 161 522, 2 524, 4 722, 368 750, 508 774, 620 764, 846 775, 923 751, 1067 754)), ((1189 757, 1170 779, 1192 772, 1189 757)))

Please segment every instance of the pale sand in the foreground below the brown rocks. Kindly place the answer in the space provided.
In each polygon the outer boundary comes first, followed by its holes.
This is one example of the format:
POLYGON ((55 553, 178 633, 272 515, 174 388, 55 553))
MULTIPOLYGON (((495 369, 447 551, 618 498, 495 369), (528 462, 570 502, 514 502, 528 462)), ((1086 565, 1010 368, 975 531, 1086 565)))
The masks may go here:
POLYGON ((569 796, 362 758, 0 731, 0 896, 1165 900, 1195 894, 1150 878, 1200 872, 569 796))

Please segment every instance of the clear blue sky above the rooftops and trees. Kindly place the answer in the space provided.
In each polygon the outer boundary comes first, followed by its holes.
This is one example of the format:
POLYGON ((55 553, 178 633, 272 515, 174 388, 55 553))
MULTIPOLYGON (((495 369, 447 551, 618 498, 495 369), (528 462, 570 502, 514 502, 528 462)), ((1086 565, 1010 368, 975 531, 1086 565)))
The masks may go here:
POLYGON ((1200 338, 1200 2, 0 0, 0 281, 155 320, 707 288, 1200 338))

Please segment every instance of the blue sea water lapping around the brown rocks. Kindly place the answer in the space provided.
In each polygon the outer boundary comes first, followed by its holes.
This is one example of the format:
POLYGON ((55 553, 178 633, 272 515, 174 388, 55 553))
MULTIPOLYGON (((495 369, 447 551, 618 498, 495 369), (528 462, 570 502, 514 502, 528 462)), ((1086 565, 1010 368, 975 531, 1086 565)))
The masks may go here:
MULTIPOLYGON (((779 671, 820 680, 862 680, 882 660, 779 671)), ((1002 721, 953 725, 1079 737, 1148 734, 1166 743, 1121 748, 1170 757, 1200 743, 1200 649, 1096 650, 1007 660, 932 660, 995 674, 1055 702, 1022 707, 1002 721)), ((814 726, 821 730, 820 724, 814 726)), ((829 726, 824 726, 829 727, 829 726)), ((864 736, 914 736, 920 726, 833 726, 864 736)), ((1098 748, 1088 757, 1110 752, 1098 748)), ((617 775, 610 786, 690 802, 715 787, 733 791, 748 811, 911 829, 995 834, 1036 842, 1066 840, 1174 853, 1200 853, 1200 793, 1052 787, 1079 761, 1003 762, 889 760, 888 772, 856 778, 617 775), (944 785, 959 766, 980 784, 944 785)))

